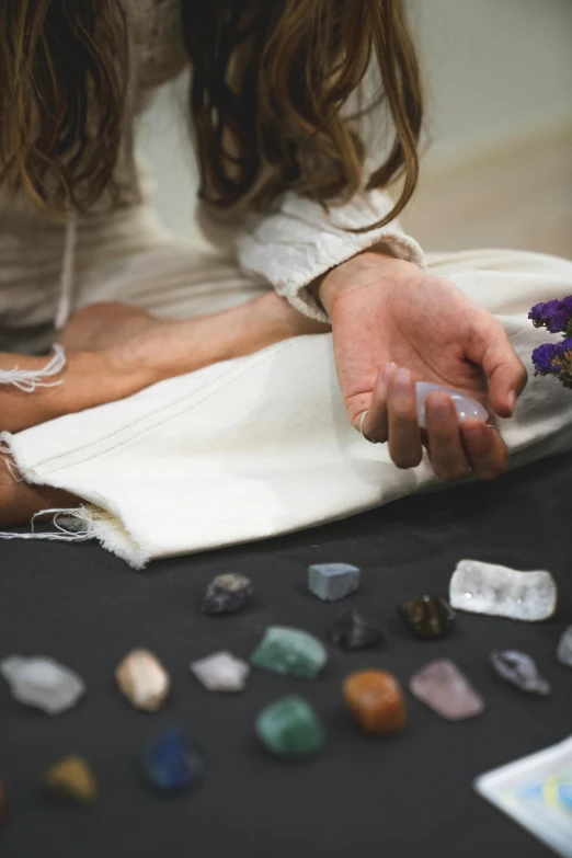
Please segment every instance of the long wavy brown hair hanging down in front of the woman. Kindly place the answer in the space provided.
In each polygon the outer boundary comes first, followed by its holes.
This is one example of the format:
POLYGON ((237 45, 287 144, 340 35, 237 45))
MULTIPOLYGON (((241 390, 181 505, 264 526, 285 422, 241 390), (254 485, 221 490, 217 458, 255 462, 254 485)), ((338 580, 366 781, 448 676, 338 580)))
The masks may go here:
MULTIPOLYGON (((265 208, 285 190, 324 206, 350 198, 364 146, 344 106, 377 64, 394 139, 368 187, 404 174, 382 222, 402 210, 417 180, 422 99, 401 0, 182 9, 204 199, 265 208)), ((113 188, 127 89, 121 0, 1 0, 0 184, 54 215, 88 208, 113 188)))

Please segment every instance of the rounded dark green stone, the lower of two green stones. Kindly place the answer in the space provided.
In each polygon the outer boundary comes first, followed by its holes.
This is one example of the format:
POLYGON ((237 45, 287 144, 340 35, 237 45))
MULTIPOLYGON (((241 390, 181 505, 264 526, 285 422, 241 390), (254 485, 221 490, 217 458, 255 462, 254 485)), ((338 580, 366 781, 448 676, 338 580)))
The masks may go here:
POLYGON ((267 751, 287 757, 316 754, 325 741, 318 716, 296 695, 282 697, 262 710, 256 719, 256 735, 267 751))

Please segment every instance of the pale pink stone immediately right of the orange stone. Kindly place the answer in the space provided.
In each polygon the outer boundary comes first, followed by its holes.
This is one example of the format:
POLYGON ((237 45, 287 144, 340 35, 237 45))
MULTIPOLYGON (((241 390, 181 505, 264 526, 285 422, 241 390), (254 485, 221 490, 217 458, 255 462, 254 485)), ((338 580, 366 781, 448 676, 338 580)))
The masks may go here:
POLYGON ((436 659, 414 673, 409 689, 447 721, 474 718, 484 710, 482 697, 449 659, 436 659))

